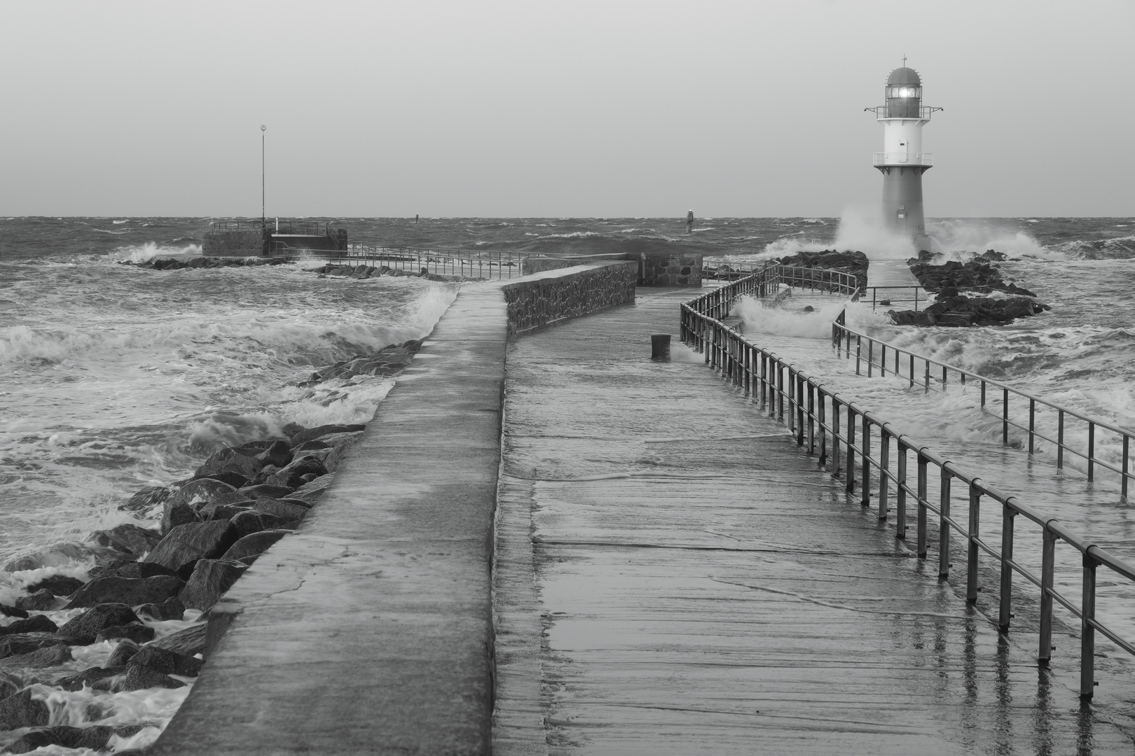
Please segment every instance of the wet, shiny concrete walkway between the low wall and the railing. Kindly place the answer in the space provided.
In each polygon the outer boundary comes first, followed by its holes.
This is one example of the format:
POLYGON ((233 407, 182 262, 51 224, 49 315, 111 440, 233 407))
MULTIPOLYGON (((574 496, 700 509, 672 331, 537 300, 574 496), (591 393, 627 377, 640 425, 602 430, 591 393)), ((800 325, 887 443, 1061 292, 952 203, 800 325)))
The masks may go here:
POLYGON ((676 342, 690 296, 508 347, 494 753, 1132 753, 676 342))

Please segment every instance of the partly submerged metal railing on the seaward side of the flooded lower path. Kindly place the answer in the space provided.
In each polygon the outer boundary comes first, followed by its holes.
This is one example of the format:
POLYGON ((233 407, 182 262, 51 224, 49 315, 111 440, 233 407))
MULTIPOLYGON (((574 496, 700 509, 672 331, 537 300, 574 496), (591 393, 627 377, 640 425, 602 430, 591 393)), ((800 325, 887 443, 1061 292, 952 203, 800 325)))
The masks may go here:
POLYGON ((1100 422, 1075 409, 1015 389, 1001 381, 917 355, 866 333, 852 331, 847 326, 847 311, 843 311, 832 323, 832 347, 838 355, 846 354, 850 359, 852 340, 855 340, 856 374, 860 374, 861 364, 865 364, 868 377, 874 374, 876 368, 880 375, 885 375, 890 369, 891 375, 907 379, 911 387, 916 382, 922 383, 926 391, 930 391, 931 388, 945 391, 950 385, 961 389, 976 387, 981 394, 981 410, 986 415, 1001 418, 1001 442, 1003 444, 1009 445, 1009 428, 1016 428, 1027 438, 1029 457, 1040 451, 1043 443, 1052 444, 1056 449, 1057 470, 1059 472, 1063 470, 1066 457, 1068 457, 1069 462, 1083 461, 1088 484, 1095 482, 1100 468, 1115 473, 1119 476, 1119 491, 1123 501, 1127 501, 1129 484, 1135 477, 1132 473, 1130 459, 1132 439, 1135 438, 1135 432, 1100 422), (866 351, 864 346, 866 346, 866 351), (886 364, 888 359, 891 362, 890 366, 886 364), (916 368, 920 368, 920 371, 916 368), (1022 408, 1018 411, 1018 417, 1010 414, 1010 397, 1015 398, 1016 406, 1022 408), (1037 410, 1042 413, 1040 417, 1037 410), (1022 417, 1026 413, 1027 416, 1022 417), (1045 431, 1041 427, 1045 425, 1049 428, 1056 426, 1056 438, 1049 435, 1052 433, 1051 430, 1045 431), (1071 444, 1068 442, 1069 436, 1086 436, 1086 443, 1083 447, 1071 444), (1041 442, 1040 447, 1037 442, 1041 442), (1096 453, 1098 447, 1119 448, 1121 450, 1120 458, 1118 460, 1103 459, 1096 453))

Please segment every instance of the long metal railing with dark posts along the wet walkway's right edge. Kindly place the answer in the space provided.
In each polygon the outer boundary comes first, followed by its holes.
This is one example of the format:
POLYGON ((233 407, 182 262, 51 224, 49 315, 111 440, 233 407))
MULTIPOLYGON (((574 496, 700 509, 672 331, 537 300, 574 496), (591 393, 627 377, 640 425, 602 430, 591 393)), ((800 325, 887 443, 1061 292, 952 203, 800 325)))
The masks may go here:
MULTIPOLYGON (((738 297, 762 296, 770 292, 777 277, 779 272, 768 269, 758 271, 749 278, 729 283, 683 304, 680 322, 682 341, 703 352, 706 365, 720 371, 725 380, 740 387, 745 394, 759 402, 760 408, 770 416, 788 425, 797 445, 806 447, 809 455, 818 453, 821 467, 825 467, 835 477, 842 475, 849 494, 855 492, 858 484, 860 503, 864 506, 871 504, 874 484, 874 499, 877 502, 881 520, 888 518, 893 495, 898 538, 907 537, 907 507, 913 501, 916 508, 918 559, 927 558, 928 515, 936 516, 938 569, 941 579, 948 578, 950 574, 951 532, 962 534, 967 551, 967 603, 977 602, 981 553, 992 557, 1000 564, 998 627, 1001 632, 1008 632, 1010 620, 1014 618, 1014 574, 1037 586, 1041 592, 1037 657, 1042 663, 1048 663, 1054 649, 1053 602, 1078 618, 1081 621, 1079 693, 1083 698, 1091 698, 1095 686, 1096 631, 1102 632, 1127 653, 1135 655, 1135 646, 1095 617, 1096 569, 1103 566, 1113 574, 1135 581, 1135 567, 1074 533, 1056 518, 1024 504, 1017 496, 966 473, 922 442, 898 433, 890 423, 861 408, 851 399, 829 390, 817 377, 808 375, 794 364, 785 362, 768 349, 750 343, 738 331, 722 322, 722 317, 729 314, 730 306, 738 297), (873 436, 878 440, 877 451, 873 451, 873 436), (892 442, 896 449, 893 469, 892 442), (915 462, 914 479, 909 475, 911 456, 915 462), (938 494, 933 498, 930 475, 932 466, 939 470, 938 494), (951 485, 955 481, 968 490, 969 507, 965 520, 951 513, 951 485), (981 536, 982 496, 1001 504, 1000 550, 981 536), (1040 576, 1014 560, 1014 526, 1018 515, 1041 528, 1040 576), (1073 546, 1081 555, 1083 594, 1079 606, 1053 585, 1056 546, 1059 542, 1073 546)), ((833 326, 834 332, 836 331, 833 326)))

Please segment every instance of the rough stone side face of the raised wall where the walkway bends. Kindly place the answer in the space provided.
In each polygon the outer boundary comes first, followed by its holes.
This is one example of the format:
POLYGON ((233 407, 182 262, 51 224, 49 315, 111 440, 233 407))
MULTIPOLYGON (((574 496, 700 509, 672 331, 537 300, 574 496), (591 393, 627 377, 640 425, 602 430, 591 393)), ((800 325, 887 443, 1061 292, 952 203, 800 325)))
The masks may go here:
POLYGON ((609 262, 575 273, 506 284, 508 334, 633 303, 638 267, 634 262, 609 262))

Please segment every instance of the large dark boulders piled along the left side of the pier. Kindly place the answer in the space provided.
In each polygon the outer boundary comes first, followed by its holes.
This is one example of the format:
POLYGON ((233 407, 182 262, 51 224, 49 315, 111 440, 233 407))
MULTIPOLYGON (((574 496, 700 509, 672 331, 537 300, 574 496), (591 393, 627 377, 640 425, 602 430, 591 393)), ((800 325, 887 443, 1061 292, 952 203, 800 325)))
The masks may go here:
MULTIPOLYGON (((420 340, 390 345, 322 367, 308 383, 394 375, 420 348, 420 340)), ((120 504, 141 524, 91 534, 95 566, 85 576, 50 575, 24 586, 15 606, 0 604, 0 731, 18 731, 0 740, 8 741, 0 753, 123 748, 143 729, 165 727, 98 722, 115 694, 192 685, 212 606, 302 526, 364 430, 288 424, 278 438, 220 449, 190 478, 148 486, 120 504), (144 527, 148 520, 159 524, 144 527), (64 694, 84 690, 92 696, 85 714, 62 713, 64 694)))

